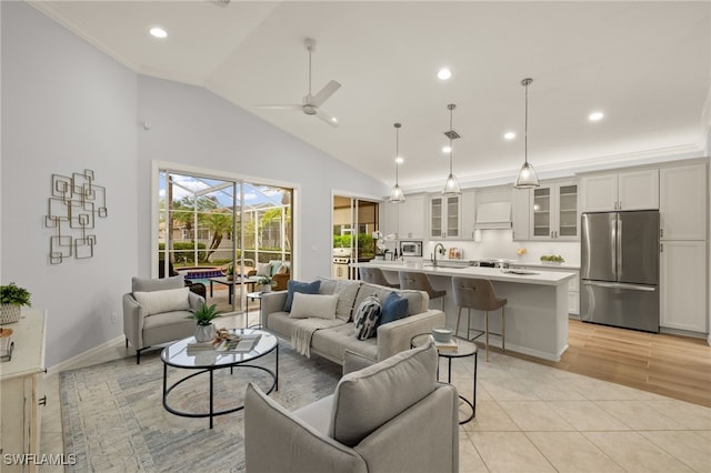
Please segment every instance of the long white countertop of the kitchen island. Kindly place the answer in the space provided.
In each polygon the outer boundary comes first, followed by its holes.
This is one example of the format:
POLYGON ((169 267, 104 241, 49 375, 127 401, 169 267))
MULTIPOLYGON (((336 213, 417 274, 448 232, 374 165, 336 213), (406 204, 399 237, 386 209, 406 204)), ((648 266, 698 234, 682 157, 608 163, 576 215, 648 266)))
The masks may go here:
MULTIPOLYGON (((447 264, 443 262, 442 264, 447 264)), ((478 266, 464 266, 464 268, 447 268, 438 266, 433 268, 431 263, 424 263, 417 265, 402 263, 401 261, 370 261, 368 263, 358 263, 359 266, 365 268, 380 268, 383 271, 417 271, 431 275, 442 276, 462 276, 462 278, 483 278, 491 281, 502 282, 515 282, 521 284, 543 284, 543 285, 559 285, 567 283, 569 279, 575 276, 574 272, 565 271, 545 271, 543 266, 539 270, 530 269, 529 271, 534 274, 517 274, 518 269, 512 268, 510 270, 501 270, 499 268, 478 268, 478 266), (507 272, 507 271, 514 271, 507 272)))

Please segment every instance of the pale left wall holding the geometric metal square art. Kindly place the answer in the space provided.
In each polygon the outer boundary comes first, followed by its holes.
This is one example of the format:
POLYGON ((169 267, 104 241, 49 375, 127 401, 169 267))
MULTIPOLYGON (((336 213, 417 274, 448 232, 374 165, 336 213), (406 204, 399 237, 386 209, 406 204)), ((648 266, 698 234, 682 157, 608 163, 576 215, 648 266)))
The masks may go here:
POLYGON ((136 74, 24 2, 2 2, 2 283, 48 309, 52 365, 121 333, 137 269, 136 74), (49 264, 51 174, 107 188, 94 258, 49 264), (111 322, 117 313, 118 323, 111 322))

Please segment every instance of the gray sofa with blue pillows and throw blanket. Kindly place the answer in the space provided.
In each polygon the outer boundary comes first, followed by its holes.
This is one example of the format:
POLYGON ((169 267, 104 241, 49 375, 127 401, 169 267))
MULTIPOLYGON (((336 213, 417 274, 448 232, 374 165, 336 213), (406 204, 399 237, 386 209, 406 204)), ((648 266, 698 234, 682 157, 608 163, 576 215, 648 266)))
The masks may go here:
MULTIPOLYGON (((429 296, 423 291, 399 290, 361 281, 321 280, 320 294, 338 294, 336 326, 319 329, 310 340, 310 353, 343 364, 346 350, 373 361, 381 361, 410 349, 410 340, 420 333, 444 326, 444 313, 429 309, 429 296), (408 300, 408 316, 378 326, 375 338, 358 340, 354 335, 352 316, 360 303, 369 295, 377 294, 384 301, 395 292, 408 300), (339 322, 340 321, 340 322, 339 322)), ((283 310, 287 292, 262 295, 262 325, 286 340, 292 340, 294 330, 304 319, 290 318, 283 310)))

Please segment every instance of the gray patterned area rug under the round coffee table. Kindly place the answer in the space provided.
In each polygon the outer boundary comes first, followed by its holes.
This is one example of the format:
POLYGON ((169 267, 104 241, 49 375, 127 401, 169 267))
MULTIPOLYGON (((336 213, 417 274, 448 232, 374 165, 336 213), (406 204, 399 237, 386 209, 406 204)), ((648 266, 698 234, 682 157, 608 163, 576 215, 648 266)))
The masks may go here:
MULTIPOLYGON (((294 410, 331 394, 341 366, 321 358, 307 359, 282 343, 279 391, 270 394, 294 410)), ((274 355, 253 364, 273 370, 274 355)), ((177 416, 163 409, 163 364, 160 352, 116 360, 60 373, 64 454, 77 462, 69 471, 101 472, 240 472, 244 470, 244 411, 209 421, 177 416)), ((169 369, 169 383, 186 371, 169 369)), ((256 369, 219 370, 214 375, 216 410, 242 404, 248 382, 271 384, 256 369)), ((198 375, 169 395, 169 405, 207 412, 209 378, 198 375)))

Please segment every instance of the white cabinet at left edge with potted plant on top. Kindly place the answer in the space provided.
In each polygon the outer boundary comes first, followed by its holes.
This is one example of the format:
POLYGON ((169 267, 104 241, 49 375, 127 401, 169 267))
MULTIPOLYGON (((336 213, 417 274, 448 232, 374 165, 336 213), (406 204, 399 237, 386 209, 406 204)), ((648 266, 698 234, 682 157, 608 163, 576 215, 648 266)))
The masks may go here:
MULTIPOLYGON (((40 453, 40 379, 44 372, 46 314, 22 311, 22 318, 2 325, 12 329, 12 360, 2 362, 0 374, 0 451, 2 454, 40 453)), ((33 472, 37 465, 3 464, 3 472, 33 472)))

